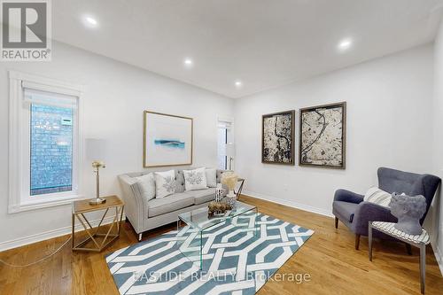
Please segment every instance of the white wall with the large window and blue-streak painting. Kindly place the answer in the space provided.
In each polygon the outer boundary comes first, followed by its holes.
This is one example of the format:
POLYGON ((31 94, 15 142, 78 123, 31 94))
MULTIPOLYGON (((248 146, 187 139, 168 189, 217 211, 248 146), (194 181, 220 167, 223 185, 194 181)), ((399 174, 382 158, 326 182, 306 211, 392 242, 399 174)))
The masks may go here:
MULTIPOLYGON (((26 238, 31 235, 59 234, 58 229, 66 230, 71 224, 70 205, 7 213, 8 70, 85 85, 84 137, 105 138, 111 150, 101 172, 103 195, 120 193, 117 175, 143 169, 144 110, 194 118, 195 166, 216 167, 217 118, 233 117, 232 99, 204 89, 62 43, 53 44, 52 57, 48 63, 0 63, 0 251, 34 240, 36 237, 26 238), (16 243, 10 243, 14 240, 16 243)), ((93 198, 95 182, 88 162, 82 163, 82 179, 82 193, 93 198)))

